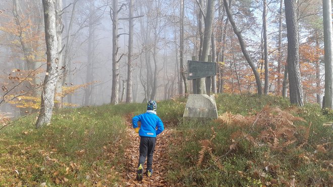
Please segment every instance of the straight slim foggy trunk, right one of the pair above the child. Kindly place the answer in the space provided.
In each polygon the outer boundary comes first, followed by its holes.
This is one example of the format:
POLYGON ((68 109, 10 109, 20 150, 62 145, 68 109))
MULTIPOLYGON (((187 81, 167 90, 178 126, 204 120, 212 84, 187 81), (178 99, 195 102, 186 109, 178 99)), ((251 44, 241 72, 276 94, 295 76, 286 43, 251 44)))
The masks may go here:
POLYGON ((132 87, 133 87, 133 81, 132 81, 132 58, 133 58, 133 30, 134 30, 134 24, 133 24, 133 5, 134 0, 130 0, 129 4, 129 36, 128 36, 128 61, 127 61, 127 87, 126 87, 126 103, 132 102, 132 87))

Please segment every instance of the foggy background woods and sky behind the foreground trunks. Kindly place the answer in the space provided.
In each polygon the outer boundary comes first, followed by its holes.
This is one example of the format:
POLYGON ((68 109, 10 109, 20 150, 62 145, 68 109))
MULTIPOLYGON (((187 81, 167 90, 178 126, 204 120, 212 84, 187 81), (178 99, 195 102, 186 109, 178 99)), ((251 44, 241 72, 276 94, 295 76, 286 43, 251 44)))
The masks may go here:
MULTIPOLYGON (((55 98, 55 105, 62 108, 111 102, 113 78, 116 77, 113 74, 114 12, 119 13, 115 58, 119 63, 119 77, 115 81, 118 84, 117 102, 113 104, 141 103, 149 99, 159 101, 193 93, 193 83, 187 80, 187 60, 192 56, 200 59, 200 41, 203 40, 208 9, 206 1, 119 0, 116 7, 114 2, 63 0, 58 3, 61 21, 57 24, 62 39, 61 66, 58 66, 60 91, 55 91, 60 99, 55 98), (133 2, 131 19, 130 2, 133 2), (130 20, 133 21, 133 49, 129 55, 130 20), (130 97, 127 94, 129 56, 132 70, 130 97), (185 93, 185 86, 188 93, 185 93)), ((217 63, 217 73, 212 78, 212 89, 215 90, 212 92, 257 93, 253 72, 229 22, 224 1, 214 2, 208 52, 212 55, 211 61, 217 63)), ((233 19, 264 88, 263 1, 230 2, 233 19)), ((287 60, 285 10, 281 8, 281 1, 267 1, 266 4, 267 93, 282 96, 287 60)), ((321 103, 324 87, 322 5, 317 0, 300 0, 297 6, 303 99, 321 103)), ((3 100, 0 111, 10 116, 37 111, 40 85, 46 70, 41 0, 2 0, 0 39, 3 100)))

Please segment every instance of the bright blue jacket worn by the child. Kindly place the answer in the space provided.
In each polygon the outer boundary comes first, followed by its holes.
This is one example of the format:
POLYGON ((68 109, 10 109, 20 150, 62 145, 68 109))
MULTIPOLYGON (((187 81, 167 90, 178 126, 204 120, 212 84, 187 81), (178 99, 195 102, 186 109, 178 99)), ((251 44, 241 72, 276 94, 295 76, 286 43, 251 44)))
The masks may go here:
POLYGON ((138 128, 138 121, 141 121, 140 137, 156 137, 164 130, 162 120, 152 111, 148 110, 146 113, 134 116, 132 118, 133 128, 138 128))

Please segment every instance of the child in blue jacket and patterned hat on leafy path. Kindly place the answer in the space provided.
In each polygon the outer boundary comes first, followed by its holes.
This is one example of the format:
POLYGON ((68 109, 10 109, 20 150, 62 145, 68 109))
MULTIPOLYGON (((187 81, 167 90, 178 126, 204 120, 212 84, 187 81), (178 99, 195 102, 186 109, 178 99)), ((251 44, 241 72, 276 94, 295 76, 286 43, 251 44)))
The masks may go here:
POLYGON ((150 100, 147 104, 146 113, 139 114, 132 118, 133 128, 136 133, 139 133, 140 136, 140 157, 136 174, 137 180, 142 180, 143 165, 146 157, 146 174, 148 177, 152 176, 152 160, 156 144, 156 136, 164 130, 162 120, 156 115, 156 109, 156 102, 154 100, 150 100), (138 121, 141 122, 141 127, 138 126, 138 121))

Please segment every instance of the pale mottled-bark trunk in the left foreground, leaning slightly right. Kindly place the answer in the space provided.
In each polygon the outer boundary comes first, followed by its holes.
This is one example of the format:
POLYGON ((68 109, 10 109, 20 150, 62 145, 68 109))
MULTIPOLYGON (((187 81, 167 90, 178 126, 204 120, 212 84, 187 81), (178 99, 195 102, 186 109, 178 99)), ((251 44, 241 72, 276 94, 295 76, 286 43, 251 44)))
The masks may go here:
POLYGON ((41 128, 51 121, 54 105, 54 89, 58 80, 58 38, 57 12, 55 0, 43 0, 47 65, 41 93, 41 105, 36 128, 41 128))

